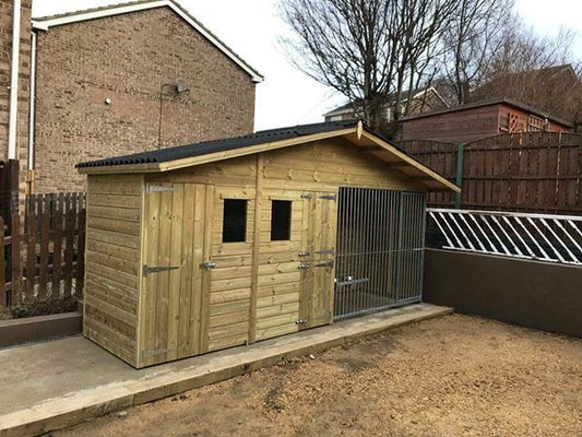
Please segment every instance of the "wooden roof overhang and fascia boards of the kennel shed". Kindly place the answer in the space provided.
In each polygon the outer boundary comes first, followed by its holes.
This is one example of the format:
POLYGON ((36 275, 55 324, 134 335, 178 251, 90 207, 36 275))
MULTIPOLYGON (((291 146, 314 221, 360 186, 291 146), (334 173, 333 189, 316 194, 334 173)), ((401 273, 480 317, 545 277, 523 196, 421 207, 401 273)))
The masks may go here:
POLYGON ((389 143, 387 140, 368 131, 360 122, 355 127, 338 129, 328 132, 319 132, 309 135, 295 137, 268 143, 248 145, 245 147, 209 153, 200 156, 186 157, 162 163, 146 163, 133 165, 108 165, 96 167, 80 167, 80 174, 104 175, 127 173, 164 173, 186 167, 210 164, 218 161, 252 155, 254 153, 270 152, 273 150, 290 147, 332 138, 343 138, 364 153, 369 153, 387 165, 387 169, 403 174, 405 177, 417 181, 428 191, 454 191, 461 192, 461 188, 449 181, 443 176, 431 170, 418 161, 389 143))

